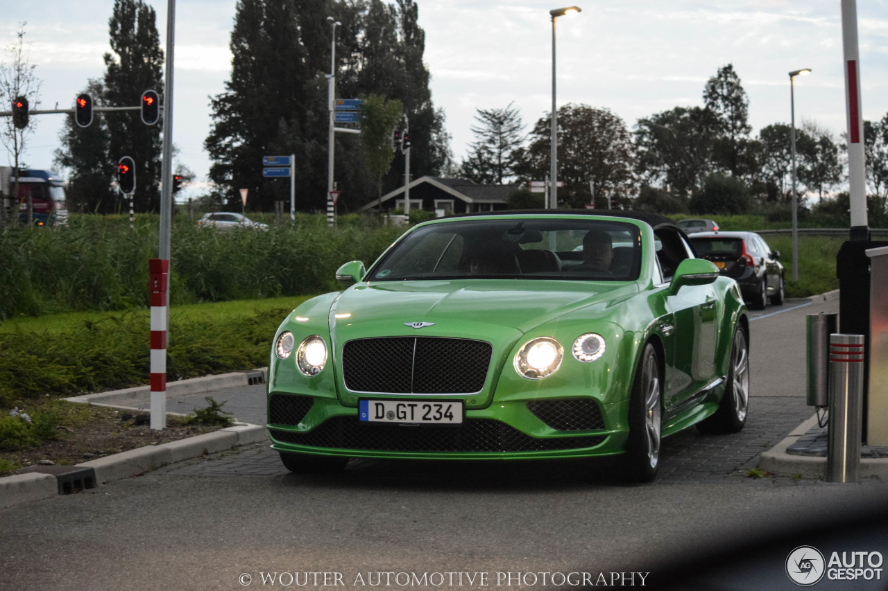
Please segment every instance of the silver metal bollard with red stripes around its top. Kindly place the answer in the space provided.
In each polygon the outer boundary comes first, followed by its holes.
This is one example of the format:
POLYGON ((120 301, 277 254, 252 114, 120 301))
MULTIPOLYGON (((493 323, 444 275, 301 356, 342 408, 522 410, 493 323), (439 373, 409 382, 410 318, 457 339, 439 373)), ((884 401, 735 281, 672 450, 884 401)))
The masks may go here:
POLYGON ((829 335, 827 482, 860 477, 863 422, 863 335, 829 335))

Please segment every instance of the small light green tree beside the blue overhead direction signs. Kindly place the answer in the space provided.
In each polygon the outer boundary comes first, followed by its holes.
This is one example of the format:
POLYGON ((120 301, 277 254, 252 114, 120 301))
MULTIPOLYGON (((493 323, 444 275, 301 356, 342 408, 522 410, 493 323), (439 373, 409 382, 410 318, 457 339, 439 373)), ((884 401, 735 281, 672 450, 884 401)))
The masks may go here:
POLYGON ((389 100, 377 94, 364 98, 361 104, 361 146, 364 162, 377 182, 377 197, 382 198, 382 179, 392 168, 392 132, 403 112, 400 100, 389 100))

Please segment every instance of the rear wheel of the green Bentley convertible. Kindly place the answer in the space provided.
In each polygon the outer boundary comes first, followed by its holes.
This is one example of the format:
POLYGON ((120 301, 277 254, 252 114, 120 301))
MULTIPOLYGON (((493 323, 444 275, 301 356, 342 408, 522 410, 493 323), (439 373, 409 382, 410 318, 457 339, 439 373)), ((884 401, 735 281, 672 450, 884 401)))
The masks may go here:
POLYGON ((743 327, 733 332, 731 365, 718 410, 697 424, 702 433, 736 433, 746 424, 749 411, 749 339, 743 327))

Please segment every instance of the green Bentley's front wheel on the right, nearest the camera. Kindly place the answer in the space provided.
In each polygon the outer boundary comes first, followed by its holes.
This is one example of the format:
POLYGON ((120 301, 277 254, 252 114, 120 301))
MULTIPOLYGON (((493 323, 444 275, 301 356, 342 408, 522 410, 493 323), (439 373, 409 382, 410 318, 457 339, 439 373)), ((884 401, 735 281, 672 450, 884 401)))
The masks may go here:
POLYGON ((624 473, 630 482, 650 482, 660 467, 662 441, 662 382, 660 358, 654 345, 641 352, 629 401, 629 440, 624 473))

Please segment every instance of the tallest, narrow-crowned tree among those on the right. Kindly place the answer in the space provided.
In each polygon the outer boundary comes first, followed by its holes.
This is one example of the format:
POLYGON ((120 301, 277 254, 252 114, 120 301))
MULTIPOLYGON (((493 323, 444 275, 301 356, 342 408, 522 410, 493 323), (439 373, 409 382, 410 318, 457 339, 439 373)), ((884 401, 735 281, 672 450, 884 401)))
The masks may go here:
POLYGON ((749 98, 733 65, 718 68, 718 74, 709 79, 703 89, 703 102, 714 123, 715 165, 730 171, 734 177, 752 172, 755 162, 749 162, 748 158, 748 138, 752 130, 749 98))

